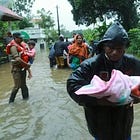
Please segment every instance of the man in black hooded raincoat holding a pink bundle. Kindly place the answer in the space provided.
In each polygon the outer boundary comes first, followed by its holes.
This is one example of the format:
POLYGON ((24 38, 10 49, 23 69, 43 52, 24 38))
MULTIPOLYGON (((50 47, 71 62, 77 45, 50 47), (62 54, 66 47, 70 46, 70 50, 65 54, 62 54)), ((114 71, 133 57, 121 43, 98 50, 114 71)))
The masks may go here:
POLYGON ((75 92, 90 84, 94 75, 109 81, 113 69, 129 76, 140 76, 140 59, 125 54, 128 46, 127 32, 119 22, 113 23, 99 41, 100 53, 82 62, 67 80, 68 94, 83 106, 88 130, 95 140, 131 140, 133 104, 140 99, 131 96, 125 104, 118 105, 108 100, 110 96, 96 98, 75 92))

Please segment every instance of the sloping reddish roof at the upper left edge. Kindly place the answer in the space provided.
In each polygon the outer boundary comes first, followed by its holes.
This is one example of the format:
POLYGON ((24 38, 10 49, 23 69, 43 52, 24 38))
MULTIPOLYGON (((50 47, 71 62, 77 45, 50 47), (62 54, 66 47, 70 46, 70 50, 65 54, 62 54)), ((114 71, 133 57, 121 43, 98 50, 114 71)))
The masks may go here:
POLYGON ((0 5, 0 21, 22 20, 22 17, 14 13, 9 8, 0 5))

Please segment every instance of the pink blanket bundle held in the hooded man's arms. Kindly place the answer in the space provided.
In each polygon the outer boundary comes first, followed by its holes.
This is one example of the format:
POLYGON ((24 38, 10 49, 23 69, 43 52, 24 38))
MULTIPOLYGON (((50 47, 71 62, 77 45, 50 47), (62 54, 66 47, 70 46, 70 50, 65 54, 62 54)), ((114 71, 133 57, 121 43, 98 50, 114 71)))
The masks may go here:
POLYGON ((108 101, 122 103, 130 98, 131 91, 134 91, 133 89, 138 85, 140 85, 140 76, 128 76, 114 69, 109 81, 103 81, 100 77, 94 75, 89 85, 81 87, 75 93, 77 95, 93 96, 98 99, 108 96, 108 101))

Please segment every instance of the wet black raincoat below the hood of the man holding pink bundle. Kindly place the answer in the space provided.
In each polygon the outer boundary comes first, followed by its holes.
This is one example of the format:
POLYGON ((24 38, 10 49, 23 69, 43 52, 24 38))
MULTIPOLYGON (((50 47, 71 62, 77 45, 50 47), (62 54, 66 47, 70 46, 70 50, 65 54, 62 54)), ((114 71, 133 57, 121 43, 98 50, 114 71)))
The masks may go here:
POLYGON ((67 91, 75 102, 84 107, 89 132, 97 140, 131 139, 132 100, 125 105, 116 105, 104 99, 75 94, 82 86, 90 84, 95 74, 109 80, 113 69, 129 76, 140 76, 140 60, 124 55, 118 62, 112 62, 101 53, 82 62, 67 80, 67 91))

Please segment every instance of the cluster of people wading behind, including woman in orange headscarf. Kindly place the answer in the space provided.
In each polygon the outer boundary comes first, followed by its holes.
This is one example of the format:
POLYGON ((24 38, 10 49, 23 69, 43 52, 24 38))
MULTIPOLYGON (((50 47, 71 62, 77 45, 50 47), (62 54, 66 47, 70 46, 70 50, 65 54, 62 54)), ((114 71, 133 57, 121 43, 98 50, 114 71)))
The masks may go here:
POLYGON ((94 55, 93 44, 89 46, 81 33, 74 34, 73 40, 64 41, 60 35, 59 40, 51 47, 49 52, 50 67, 56 65, 58 68, 69 67, 75 70, 82 61, 94 55))

